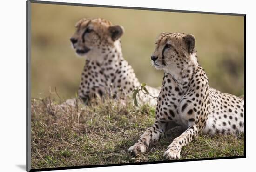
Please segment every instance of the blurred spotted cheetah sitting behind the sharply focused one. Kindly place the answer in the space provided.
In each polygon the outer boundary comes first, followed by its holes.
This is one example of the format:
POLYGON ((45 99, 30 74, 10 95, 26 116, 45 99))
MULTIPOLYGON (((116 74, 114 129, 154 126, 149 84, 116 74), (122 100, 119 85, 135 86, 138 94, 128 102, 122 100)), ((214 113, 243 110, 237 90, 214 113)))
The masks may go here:
MULTIPOLYGON (((101 18, 81 19, 70 38, 76 54, 85 57, 78 95, 87 104, 92 97, 105 95, 124 98, 141 83, 132 66, 123 58, 121 36, 124 28, 101 18)), ((146 86, 149 94, 139 93, 138 100, 155 106, 160 89, 146 86)))

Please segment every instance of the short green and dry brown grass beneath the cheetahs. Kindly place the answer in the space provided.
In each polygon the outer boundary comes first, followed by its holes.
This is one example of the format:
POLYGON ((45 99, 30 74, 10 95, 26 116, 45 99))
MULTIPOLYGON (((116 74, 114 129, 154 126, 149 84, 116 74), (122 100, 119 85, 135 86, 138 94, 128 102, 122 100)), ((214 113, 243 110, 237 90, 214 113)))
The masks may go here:
MULTIPOLYGON (((148 152, 132 157, 127 150, 154 123, 154 108, 134 107, 129 98, 63 110, 47 110, 49 102, 59 100, 31 99, 32 168, 162 161, 164 150, 180 134, 174 129, 148 152)), ((242 155, 243 135, 199 135, 181 152, 182 159, 242 155)))

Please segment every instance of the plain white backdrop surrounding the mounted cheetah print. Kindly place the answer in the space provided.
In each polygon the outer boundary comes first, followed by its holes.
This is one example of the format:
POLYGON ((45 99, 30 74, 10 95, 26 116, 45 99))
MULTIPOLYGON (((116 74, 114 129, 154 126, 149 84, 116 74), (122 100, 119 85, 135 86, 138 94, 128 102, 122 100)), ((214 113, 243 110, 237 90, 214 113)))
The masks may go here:
MULTIPOLYGON (((55 1, 55 0, 52 0, 55 1)), ((57 0, 88 4, 165 8, 222 13, 245 13, 246 18, 246 131, 247 158, 129 165, 65 172, 241 172, 253 171, 256 153, 255 64, 256 10, 253 0, 57 0)), ((2 0, 0 6, 0 171, 26 169, 26 1, 2 0)), ((153 21, 154 22, 154 21, 153 21)), ((171 22, 171 21, 170 21, 171 22)), ((230 28, 232 29, 232 28, 230 28)), ((209 40, 210 41, 210 40, 209 40)), ((236 85, 236 83, 234 83, 236 85)), ((62 172, 64 172, 62 170, 62 172)))

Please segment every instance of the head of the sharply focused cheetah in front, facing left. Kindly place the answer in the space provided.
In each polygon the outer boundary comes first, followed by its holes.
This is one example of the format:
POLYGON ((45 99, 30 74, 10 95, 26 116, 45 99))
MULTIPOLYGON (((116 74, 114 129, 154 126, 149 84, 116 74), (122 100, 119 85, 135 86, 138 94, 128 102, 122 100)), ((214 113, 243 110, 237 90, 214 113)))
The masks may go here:
POLYGON ((197 64, 195 37, 184 33, 162 33, 156 40, 152 65, 172 75, 182 75, 190 64, 197 64))

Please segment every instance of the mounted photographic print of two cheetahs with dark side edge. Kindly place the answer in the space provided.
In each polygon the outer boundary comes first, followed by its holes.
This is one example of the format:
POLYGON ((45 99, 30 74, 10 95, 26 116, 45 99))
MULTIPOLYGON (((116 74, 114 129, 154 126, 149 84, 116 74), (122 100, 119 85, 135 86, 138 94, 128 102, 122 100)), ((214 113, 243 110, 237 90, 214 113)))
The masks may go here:
POLYGON ((244 105, 245 14, 27 1, 27 171, 244 158, 244 105))

